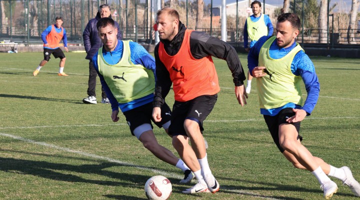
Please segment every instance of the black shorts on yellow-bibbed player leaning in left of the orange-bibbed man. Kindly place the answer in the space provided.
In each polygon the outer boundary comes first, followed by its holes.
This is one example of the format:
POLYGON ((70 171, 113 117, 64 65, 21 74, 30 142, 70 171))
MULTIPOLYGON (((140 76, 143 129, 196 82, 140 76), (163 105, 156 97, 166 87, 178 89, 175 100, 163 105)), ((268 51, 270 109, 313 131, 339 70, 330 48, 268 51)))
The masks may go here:
POLYGON ((159 122, 155 122, 152 118, 152 102, 146 103, 134 109, 127 110, 122 114, 125 115, 127 124, 130 126, 131 134, 134 135, 133 130, 137 126, 144 123, 149 123, 151 125, 151 128, 153 128, 151 121, 153 121, 157 127, 161 127, 164 123, 170 121, 171 110, 170 107, 166 103, 164 103, 161 106, 162 119, 159 122))

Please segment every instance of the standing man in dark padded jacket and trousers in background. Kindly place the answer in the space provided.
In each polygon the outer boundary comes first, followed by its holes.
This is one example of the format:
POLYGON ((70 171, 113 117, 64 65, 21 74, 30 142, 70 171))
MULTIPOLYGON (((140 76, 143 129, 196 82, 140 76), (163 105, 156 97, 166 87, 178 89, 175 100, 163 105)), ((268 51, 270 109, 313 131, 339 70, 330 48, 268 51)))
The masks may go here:
MULTIPOLYGON (((88 79, 88 88, 87 88, 87 97, 82 99, 84 103, 92 103, 96 104, 96 94, 95 94, 95 86, 96 86, 96 70, 93 67, 92 57, 97 52, 97 50, 101 47, 102 43, 97 34, 96 22, 103 17, 110 17, 110 6, 108 4, 102 4, 99 7, 99 11, 97 12, 95 18, 92 18, 88 21, 83 33, 82 37, 84 40, 85 51, 87 53, 85 59, 89 61, 89 79, 88 79)), ((115 21, 115 26, 117 28, 117 39, 122 39, 121 31, 119 30, 119 25, 115 21)), ((106 96, 106 93, 101 87, 101 103, 109 103, 109 100, 106 96)))

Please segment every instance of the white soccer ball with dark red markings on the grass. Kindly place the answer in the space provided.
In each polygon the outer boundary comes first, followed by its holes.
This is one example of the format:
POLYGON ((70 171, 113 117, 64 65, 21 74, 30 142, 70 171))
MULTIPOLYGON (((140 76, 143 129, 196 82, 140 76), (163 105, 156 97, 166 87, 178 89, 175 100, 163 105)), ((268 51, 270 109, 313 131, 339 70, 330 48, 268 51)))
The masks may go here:
POLYGON ((165 200, 171 192, 171 182, 165 176, 152 176, 145 183, 145 194, 148 199, 165 200))

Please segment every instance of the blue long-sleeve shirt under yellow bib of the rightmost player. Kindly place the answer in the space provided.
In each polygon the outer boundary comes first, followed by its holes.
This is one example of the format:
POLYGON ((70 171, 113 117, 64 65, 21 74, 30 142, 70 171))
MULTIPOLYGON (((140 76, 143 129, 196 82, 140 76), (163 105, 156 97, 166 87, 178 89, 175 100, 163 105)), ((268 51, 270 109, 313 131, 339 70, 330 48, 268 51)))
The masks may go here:
MULTIPOLYGON (((247 55, 247 66, 252 75, 252 69, 258 66, 258 55, 260 53, 261 46, 265 43, 265 41, 270 36, 262 36, 259 40, 254 44, 247 55)), ((276 39, 272 42, 269 49, 269 55, 273 59, 278 59, 285 56, 290 50, 292 50, 296 46, 296 42, 293 42, 291 46, 286 48, 280 48, 276 44, 276 39)), ((320 83, 318 81, 315 66, 313 65, 310 58, 300 50, 294 56, 291 62, 291 72, 294 75, 299 75, 302 78, 302 81, 305 84, 305 89, 307 92, 307 97, 305 100, 304 105, 301 107, 300 105, 296 105, 294 103, 287 103, 281 107, 273 108, 273 109, 260 109, 261 114, 265 115, 276 115, 281 109, 286 107, 292 107, 297 109, 303 109, 310 114, 311 111, 314 109, 315 104, 317 102, 319 92, 320 92, 320 83)))

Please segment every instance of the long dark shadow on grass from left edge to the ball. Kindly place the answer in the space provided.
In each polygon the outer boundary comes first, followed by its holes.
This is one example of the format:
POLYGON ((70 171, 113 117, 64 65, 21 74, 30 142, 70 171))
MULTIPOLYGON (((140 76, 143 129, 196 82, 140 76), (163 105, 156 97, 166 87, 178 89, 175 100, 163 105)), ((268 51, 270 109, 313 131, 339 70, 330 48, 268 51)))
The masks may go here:
POLYGON ((112 166, 121 166, 122 164, 104 162, 99 164, 83 164, 83 165, 71 165, 62 163, 52 163, 47 161, 34 161, 26 159, 15 159, 0 157, 0 170, 10 173, 19 173, 34 175, 38 177, 48 178, 52 180, 67 181, 67 182, 84 182, 99 185, 110 186, 123 186, 123 187, 138 187, 138 182, 146 182, 149 178, 145 175, 119 173, 103 170, 104 168, 112 166), (63 171, 63 172, 62 172, 63 171), (91 174, 98 174, 107 176, 110 178, 116 178, 116 181, 112 180, 94 180, 86 179, 78 175, 69 174, 68 171, 76 173, 85 173, 84 176, 91 174))

